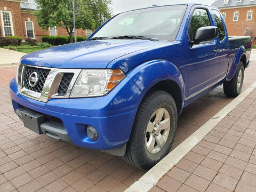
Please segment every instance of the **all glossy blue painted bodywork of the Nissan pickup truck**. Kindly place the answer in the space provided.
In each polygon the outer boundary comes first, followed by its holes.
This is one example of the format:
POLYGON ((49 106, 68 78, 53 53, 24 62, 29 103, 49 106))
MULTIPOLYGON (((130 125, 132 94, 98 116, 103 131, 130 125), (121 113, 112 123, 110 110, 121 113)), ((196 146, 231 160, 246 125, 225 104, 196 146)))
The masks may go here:
MULTIPOLYGON (((94 149, 121 147, 130 138, 140 102, 155 84, 167 79, 175 82, 180 87, 183 108, 231 79, 243 55, 246 55, 246 61, 249 60, 251 45, 248 38, 229 38, 226 26, 226 37, 223 41, 216 38, 210 43, 189 46, 189 21, 197 7, 208 10, 209 14, 211 9, 216 9, 212 6, 187 4, 174 42, 139 39, 85 41, 26 55, 21 62, 27 65, 54 68, 120 68, 126 77, 104 97, 51 99, 46 103, 19 94, 13 79, 10 83, 10 94, 14 110, 22 105, 60 118, 70 139, 78 146, 94 149), (213 53, 214 49, 224 51, 213 53), (87 125, 98 130, 97 141, 87 137, 87 125)), ((215 25, 211 14, 210 20, 215 25)), ((90 37, 92 36, 93 34, 90 37)))

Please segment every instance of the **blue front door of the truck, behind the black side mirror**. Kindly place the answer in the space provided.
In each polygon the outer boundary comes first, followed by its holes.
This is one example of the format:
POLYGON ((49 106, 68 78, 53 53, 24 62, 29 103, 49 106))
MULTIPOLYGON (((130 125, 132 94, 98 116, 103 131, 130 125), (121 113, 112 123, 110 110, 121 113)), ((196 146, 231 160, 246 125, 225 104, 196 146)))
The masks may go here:
MULTIPOLYGON (((197 7, 190 13, 188 41, 194 42, 196 30, 205 26, 214 26, 206 7, 197 7)), ((182 68, 186 68, 187 89, 186 100, 193 99, 218 83, 219 57, 215 53, 217 38, 199 44, 187 43, 187 60, 182 68)), ((182 70, 182 69, 181 69, 182 70)))

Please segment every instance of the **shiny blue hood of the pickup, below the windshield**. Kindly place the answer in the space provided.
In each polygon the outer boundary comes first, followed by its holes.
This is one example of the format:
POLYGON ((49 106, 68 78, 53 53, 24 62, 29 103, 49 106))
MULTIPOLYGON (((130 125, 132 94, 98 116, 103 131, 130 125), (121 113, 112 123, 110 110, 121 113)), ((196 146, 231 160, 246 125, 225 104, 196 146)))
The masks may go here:
POLYGON ((55 68, 106 68, 116 58, 156 45, 159 42, 141 39, 84 41, 27 54, 21 63, 55 68))

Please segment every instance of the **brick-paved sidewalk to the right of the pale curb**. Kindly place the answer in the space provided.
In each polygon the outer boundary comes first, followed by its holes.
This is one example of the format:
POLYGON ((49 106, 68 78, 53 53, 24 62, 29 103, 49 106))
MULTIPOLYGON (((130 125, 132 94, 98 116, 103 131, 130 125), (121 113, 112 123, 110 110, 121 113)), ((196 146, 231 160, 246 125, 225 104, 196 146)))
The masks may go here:
POLYGON ((256 90, 250 93, 151 192, 256 191, 256 90))

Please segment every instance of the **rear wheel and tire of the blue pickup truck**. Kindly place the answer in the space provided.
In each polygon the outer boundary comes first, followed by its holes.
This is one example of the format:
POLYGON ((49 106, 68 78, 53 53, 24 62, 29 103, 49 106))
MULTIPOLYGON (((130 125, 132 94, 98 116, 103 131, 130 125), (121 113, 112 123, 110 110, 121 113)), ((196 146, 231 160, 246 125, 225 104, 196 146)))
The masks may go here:
POLYGON ((234 77, 223 84, 224 93, 227 97, 237 97, 242 90, 244 82, 244 64, 239 61, 234 77))

